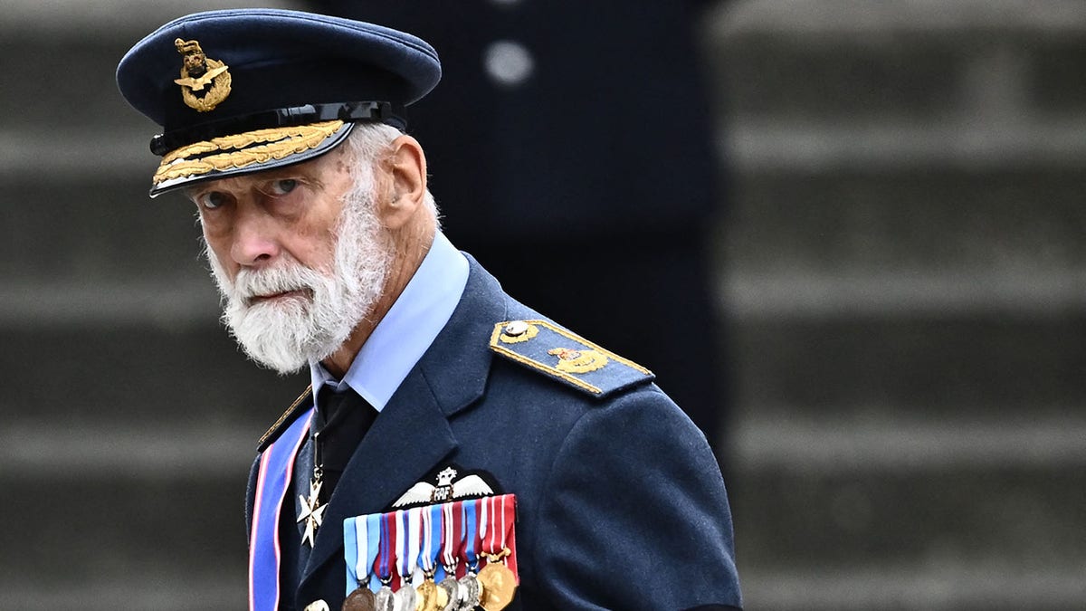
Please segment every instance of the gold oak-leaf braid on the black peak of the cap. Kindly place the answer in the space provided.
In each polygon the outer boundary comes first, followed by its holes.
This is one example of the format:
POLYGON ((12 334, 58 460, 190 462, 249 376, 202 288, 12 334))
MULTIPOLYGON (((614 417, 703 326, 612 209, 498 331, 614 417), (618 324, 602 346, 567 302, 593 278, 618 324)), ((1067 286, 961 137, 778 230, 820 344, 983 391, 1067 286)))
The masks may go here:
POLYGON ((269 127, 236 136, 213 138, 204 142, 195 142, 177 149, 164 157, 152 182, 157 185, 159 183, 174 178, 206 174, 216 170, 240 169, 253 163, 283 159, 291 154, 316 148, 341 127, 343 127, 342 121, 326 121, 292 127, 269 127), (266 144, 252 146, 257 142, 266 144), (200 159, 186 159, 195 154, 214 151, 229 152, 222 152, 200 159))

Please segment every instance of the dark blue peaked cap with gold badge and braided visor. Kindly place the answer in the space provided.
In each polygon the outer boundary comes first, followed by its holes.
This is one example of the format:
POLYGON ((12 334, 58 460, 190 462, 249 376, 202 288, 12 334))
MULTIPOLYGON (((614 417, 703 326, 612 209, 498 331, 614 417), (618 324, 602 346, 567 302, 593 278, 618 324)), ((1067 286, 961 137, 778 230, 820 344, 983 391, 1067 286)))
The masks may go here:
POLYGON ((438 53, 409 34, 274 9, 180 17, 117 66, 121 93, 163 128, 152 197, 313 159, 359 121, 403 129, 403 108, 440 79, 438 53))

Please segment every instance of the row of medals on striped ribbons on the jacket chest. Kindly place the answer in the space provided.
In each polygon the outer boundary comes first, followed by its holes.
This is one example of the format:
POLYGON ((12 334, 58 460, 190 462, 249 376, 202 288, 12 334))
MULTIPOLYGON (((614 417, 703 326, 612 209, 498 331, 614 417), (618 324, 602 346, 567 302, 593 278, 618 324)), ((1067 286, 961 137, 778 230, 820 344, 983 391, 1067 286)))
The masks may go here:
POLYGON ((343 521, 342 611, 500 611, 516 593, 515 495, 343 521))

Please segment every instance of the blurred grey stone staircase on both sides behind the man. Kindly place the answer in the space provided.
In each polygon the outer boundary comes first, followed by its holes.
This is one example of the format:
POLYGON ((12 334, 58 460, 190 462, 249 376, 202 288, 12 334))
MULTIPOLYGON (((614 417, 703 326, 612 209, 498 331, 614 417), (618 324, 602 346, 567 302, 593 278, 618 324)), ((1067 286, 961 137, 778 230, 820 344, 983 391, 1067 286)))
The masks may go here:
MULTIPOLYGON (((0 609, 244 607, 249 461, 305 382, 217 325, 113 85, 224 4, 5 4, 0 609)), ((1086 608, 1086 4, 708 16, 747 608, 1086 608)))

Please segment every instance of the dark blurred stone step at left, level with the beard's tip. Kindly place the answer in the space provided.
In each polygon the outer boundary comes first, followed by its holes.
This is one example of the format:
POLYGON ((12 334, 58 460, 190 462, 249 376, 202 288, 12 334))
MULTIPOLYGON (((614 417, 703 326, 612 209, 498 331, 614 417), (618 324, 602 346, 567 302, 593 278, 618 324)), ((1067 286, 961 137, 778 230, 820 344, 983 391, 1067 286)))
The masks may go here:
POLYGON ((0 329, 0 371, 14 392, 0 400, 4 421, 26 415, 65 425, 125 422, 264 427, 308 384, 247 361, 227 333, 116 323, 0 329))

